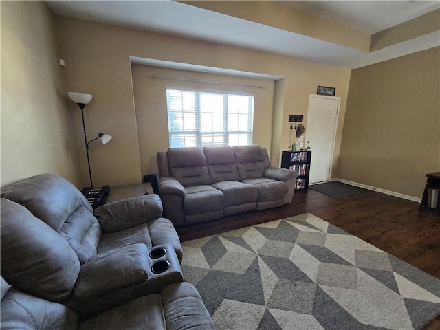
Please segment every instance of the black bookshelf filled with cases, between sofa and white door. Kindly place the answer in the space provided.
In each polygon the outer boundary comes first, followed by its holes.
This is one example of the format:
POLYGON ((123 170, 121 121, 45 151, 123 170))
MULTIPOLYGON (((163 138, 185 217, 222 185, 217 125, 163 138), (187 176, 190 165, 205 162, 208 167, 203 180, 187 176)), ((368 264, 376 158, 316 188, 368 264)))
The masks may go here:
POLYGON ((283 151, 281 167, 295 170, 298 173, 295 190, 309 189, 311 150, 283 151))

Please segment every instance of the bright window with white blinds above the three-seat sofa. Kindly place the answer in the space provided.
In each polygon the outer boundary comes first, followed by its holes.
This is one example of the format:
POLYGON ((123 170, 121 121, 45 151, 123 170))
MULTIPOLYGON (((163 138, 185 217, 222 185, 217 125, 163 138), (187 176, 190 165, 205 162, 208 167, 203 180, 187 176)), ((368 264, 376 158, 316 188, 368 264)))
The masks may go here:
POLYGON ((254 96, 166 90, 170 147, 252 144, 254 96))

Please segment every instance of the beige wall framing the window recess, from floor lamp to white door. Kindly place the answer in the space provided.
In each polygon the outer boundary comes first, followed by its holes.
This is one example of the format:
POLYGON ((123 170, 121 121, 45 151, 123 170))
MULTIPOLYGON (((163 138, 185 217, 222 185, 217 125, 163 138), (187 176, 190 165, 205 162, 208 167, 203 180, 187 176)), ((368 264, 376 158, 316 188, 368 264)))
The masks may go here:
MULTIPOLYGON (((342 97, 340 124, 343 123, 350 76, 348 69, 66 17, 56 17, 56 30, 61 57, 66 61, 67 88, 94 95, 85 108, 87 134, 91 136, 102 131, 113 136, 111 142, 105 146, 97 143, 95 150, 91 151, 96 186, 134 184, 147 174, 141 168, 144 165, 141 166, 140 159, 130 56, 284 77, 284 84, 278 84, 284 91, 274 91, 277 96, 284 96, 276 104, 277 115, 274 118, 278 122, 272 120, 272 127, 281 129, 272 129, 272 142, 266 142, 266 137, 256 136, 256 141, 263 141, 272 148, 271 160, 274 164, 279 164, 281 150, 288 146, 289 113, 304 114, 307 120, 309 94, 316 93, 316 86, 336 87, 337 96, 342 97)), ((69 108, 73 109, 74 105, 69 104, 69 108)), ((265 113, 273 111, 273 104, 271 107, 265 113)), ((76 124, 80 122, 78 115, 74 118, 76 124)), ((305 124, 307 129, 307 122, 305 124)), ((267 127, 267 124, 263 126, 267 127)), ((166 131, 167 127, 161 129, 166 131)), ((341 132, 338 132, 339 138, 341 132)), ((77 127, 78 148, 81 148, 82 139, 80 127, 77 127)), ((142 137, 142 143, 146 140, 155 142, 157 136, 147 132, 142 137)), ((163 150, 167 142, 168 137, 165 142, 161 140, 157 147, 151 146, 148 152, 153 154, 163 150)), ((146 168, 153 169, 149 167, 153 166, 151 157, 142 160, 142 164, 146 163, 149 164, 146 168)), ((80 166, 83 181, 87 182, 87 165, 83 159, 80 159, 80 166)))

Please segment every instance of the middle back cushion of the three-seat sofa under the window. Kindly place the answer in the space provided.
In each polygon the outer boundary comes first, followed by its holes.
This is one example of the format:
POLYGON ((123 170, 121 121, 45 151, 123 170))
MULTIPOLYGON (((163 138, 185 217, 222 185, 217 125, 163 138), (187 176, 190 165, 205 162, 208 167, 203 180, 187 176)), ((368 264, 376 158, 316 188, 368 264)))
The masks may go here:
POLYGON ((234 151, 230 146, 205 147, 206 162, 211 182, 240 181, 234 151))

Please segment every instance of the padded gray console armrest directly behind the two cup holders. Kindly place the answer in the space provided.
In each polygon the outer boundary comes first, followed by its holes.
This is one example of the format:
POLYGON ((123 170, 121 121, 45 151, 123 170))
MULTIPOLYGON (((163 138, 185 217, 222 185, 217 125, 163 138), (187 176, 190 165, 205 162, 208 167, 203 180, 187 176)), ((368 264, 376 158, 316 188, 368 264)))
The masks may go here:
POLYGON ((74 289, 78 301, 92 300, 148 279, 148 248, 137 243, 97 254, 81 270, 74 289))

